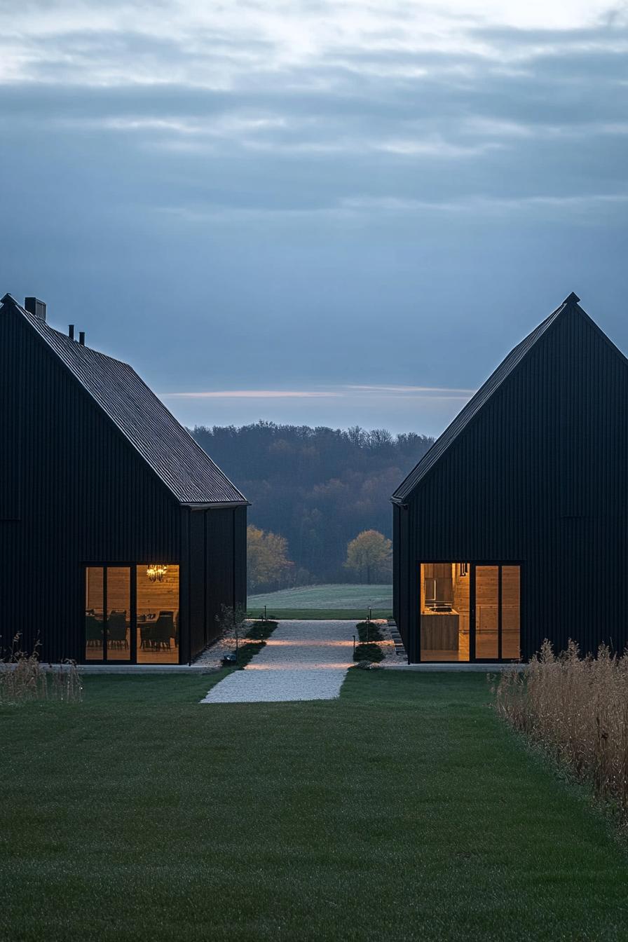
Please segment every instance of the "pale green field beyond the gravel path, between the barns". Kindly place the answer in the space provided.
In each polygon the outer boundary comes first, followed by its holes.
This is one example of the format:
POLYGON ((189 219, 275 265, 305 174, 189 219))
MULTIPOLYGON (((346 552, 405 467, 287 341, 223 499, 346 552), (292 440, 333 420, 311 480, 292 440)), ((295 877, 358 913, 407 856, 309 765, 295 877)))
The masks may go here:
POLYGON ((264 610, 277 618, 346 618, 361 619, 368 609, 373 618, 390 618, 393 614, 392 585, 322 585, 299 586, 281 592, 250 595, 251 615, 264 610))

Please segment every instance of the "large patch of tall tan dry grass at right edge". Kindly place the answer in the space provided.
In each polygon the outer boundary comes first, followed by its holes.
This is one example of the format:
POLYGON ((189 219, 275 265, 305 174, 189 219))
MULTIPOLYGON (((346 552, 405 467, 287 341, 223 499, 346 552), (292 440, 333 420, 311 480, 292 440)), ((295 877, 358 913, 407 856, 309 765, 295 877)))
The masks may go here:
POLYGON ((583 658, 570 642, 556 655, 545 641, 522 672, 501 675, 496 708, 628 823, 628 654, 603 645, 596 658, 583 658))

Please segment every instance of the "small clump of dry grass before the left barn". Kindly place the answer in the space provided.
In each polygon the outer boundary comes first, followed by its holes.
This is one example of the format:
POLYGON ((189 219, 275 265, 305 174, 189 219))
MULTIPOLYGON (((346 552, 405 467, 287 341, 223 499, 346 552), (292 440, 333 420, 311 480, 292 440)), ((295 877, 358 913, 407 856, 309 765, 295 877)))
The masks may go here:
POLYGON ((8 659, 0 662, 0 704, 12 706, 32 700, 78 703, 83 699, 83 683, 74 661, 46 669, 40 662, 39 643, 31 654, 19 645, 20 635, 16 635, 8 659))

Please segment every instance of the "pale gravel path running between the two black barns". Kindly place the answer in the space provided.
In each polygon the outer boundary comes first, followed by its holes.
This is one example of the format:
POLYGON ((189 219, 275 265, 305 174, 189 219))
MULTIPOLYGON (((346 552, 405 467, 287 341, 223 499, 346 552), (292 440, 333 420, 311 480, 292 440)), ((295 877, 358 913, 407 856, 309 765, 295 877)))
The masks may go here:
POLYGON ((355 622, 281 622, 243 671, 233 671, 203 704, 332 700, 353 663, 355 622))

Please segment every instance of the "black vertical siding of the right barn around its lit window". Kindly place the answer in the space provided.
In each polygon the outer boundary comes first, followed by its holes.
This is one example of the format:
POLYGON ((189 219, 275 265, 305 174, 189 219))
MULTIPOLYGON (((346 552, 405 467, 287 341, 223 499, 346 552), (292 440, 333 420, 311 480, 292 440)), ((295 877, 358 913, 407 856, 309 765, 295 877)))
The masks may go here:
POLYGON ((520 562, 524 658, 544 638, 628 643, 627 404, 626 362, 566 311, 398 512, 395 611, 411 660, 421 560, 520 562))

